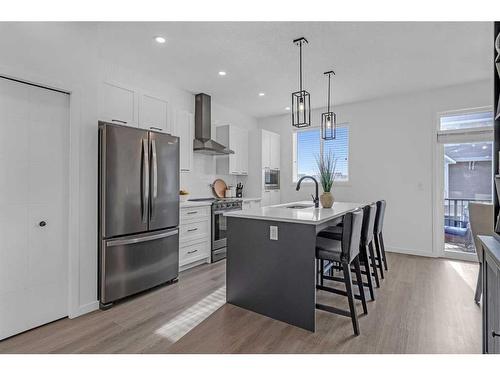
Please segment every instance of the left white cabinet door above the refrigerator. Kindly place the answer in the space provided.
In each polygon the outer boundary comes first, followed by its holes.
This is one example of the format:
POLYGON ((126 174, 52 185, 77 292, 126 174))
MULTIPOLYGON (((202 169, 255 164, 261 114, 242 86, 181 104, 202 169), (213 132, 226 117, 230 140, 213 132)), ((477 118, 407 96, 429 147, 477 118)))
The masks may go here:
POLYGON ((103 82, 100 90, 99 120, 137 126, 137 95, 134 90, 103 82))

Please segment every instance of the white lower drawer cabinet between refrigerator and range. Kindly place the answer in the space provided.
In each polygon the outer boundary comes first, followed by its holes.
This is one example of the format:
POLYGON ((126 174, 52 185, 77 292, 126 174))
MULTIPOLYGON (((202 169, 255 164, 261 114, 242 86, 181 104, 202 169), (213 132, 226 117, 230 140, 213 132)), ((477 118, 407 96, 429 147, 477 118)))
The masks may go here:
POLYGON ((179 226, 179 271, 210 263, 210 206, 182 207, 179 226))

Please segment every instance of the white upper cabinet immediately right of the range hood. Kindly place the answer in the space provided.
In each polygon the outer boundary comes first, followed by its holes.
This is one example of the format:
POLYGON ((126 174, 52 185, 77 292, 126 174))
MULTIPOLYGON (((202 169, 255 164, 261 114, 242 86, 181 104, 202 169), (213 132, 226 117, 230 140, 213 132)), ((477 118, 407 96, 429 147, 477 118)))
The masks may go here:
POLYGON ((234 125, 222 125, 216 128, 216 140, 234 154, 217 157, 217 173, 248 175, 248 130, 234 125))

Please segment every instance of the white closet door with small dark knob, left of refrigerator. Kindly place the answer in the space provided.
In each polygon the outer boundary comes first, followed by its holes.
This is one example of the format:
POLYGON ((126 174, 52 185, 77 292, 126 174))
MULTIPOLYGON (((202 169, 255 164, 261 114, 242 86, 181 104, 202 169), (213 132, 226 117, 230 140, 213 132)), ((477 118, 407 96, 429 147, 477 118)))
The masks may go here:
POLYGON ((0 78, 0 340, 67 315, 68 126, 69 95, 0 78))

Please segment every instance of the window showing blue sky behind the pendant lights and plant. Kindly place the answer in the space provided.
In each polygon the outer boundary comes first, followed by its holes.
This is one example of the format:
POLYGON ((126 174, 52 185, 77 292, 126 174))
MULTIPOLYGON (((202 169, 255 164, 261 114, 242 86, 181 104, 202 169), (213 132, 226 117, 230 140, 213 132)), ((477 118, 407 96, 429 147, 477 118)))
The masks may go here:
POLYGON ((293 137, 294 160, 293 182, 303 176, 318 174, 316 157, 332 152, 337 159, 335 182, 349 181, 349 127, 337 125, 336 138, 331 141, 321 139, 319 128, 298 130, 293 137))

